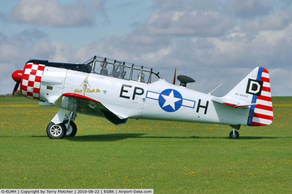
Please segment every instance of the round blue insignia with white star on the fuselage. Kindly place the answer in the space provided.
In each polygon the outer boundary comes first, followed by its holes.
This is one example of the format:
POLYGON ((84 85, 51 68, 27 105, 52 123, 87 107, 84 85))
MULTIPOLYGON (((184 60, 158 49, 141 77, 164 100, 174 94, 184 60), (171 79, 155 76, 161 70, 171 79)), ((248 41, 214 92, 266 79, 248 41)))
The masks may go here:
POLYGON ((167 112, 177 111, 183 104, 180 92, 173 89, 163 90, 158 98, 159 106, 167 112))

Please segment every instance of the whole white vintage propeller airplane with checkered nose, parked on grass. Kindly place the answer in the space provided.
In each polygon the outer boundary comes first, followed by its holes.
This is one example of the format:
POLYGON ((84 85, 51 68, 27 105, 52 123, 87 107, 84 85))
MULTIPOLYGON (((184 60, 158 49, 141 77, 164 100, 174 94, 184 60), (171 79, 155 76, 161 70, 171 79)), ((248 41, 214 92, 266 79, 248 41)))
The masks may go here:
POLYGON ((269 73, 256 67, 223 97, 186 87, 194 80, 178 76, 180 86, 166 82, 152 68, 94 56, 83 64, 29 60, 13 72, 23 96, 60 111, 48 124, 49 138, 75 136, 77 113, 105 117, 115 125, 129 118, 228 124, 230 138, 241 125, 272 123, 269 73), (67 112, 68 111, 68 112, 67 112))

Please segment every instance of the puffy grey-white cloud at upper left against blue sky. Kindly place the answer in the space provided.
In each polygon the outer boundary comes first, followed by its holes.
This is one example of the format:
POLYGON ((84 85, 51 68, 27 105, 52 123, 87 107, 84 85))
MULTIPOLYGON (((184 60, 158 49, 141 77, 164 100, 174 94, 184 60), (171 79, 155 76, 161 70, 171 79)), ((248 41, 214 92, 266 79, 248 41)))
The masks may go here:
MULTIPOLYGON (((95 2, 96 11, 101 6, 95 2)), ((94 13, 94 8, 81 0, 66 5, 57 0, 20 0, 12 8, 11 17, 18 23, 74 27, 93 25, 94 13)))

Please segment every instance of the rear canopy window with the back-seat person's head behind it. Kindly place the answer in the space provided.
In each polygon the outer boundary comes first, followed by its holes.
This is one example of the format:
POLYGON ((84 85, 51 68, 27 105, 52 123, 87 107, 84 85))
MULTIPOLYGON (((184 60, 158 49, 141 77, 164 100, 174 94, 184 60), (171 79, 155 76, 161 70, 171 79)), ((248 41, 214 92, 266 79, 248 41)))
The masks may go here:
POLYGON ((148 67, 133 65, 131 80, 148 83, 151 69, 148 67))

